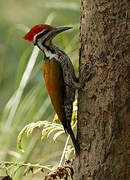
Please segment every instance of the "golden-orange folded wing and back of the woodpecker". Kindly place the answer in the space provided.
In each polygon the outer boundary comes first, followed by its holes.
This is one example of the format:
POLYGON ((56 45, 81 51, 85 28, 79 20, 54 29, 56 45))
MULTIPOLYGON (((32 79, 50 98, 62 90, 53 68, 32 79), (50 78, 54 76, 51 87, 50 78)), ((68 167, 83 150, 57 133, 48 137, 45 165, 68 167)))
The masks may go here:
POLYGON ((65 115, 63 109, 65 87, 60 63, 55 59, 44 60, 43 75, 55 112, 62 122, 65 115))

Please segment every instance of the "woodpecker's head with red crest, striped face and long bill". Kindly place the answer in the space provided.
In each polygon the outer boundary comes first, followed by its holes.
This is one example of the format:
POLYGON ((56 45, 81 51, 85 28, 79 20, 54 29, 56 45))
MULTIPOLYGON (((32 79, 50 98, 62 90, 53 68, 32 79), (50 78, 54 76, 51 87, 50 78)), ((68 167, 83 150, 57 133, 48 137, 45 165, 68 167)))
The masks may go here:
POLYGON ((55 28, 46 24, 38 24, 24 36, 24 39, 32 42, 34 45, 49 45, 57 34, 68 29, 71 29, 71 27, 55 28))

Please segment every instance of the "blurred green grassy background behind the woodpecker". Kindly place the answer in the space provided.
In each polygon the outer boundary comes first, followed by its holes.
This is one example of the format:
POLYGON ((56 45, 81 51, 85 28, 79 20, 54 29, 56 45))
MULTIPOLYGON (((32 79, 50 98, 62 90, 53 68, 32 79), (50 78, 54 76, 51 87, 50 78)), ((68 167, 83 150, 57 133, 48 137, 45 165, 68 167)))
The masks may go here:
MULTIPOLYGON (((41 130, 36 129, 24 136, 24 152, 17 148, 18 134, 25 125, 52 121, 55 115, 42 76, 43 54, 23 36, 40 23, 72 26, 73 30, 54 41, 71 57, 78 74, 79 10, 79 0, 0 0, 0 161, 59 163, 64 134, 55 143, 52 138, 41 141, 41 130)), ((5 171, 0 169, 0 175, 5 171)), ((43 175, 23 177, 21 169, 14 179, 40 180, 43 175)))

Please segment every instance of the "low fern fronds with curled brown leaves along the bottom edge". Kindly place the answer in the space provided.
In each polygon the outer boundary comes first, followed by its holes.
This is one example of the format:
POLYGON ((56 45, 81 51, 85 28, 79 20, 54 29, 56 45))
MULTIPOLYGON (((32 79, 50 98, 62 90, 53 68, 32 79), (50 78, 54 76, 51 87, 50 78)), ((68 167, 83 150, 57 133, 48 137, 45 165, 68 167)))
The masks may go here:
POLYGON ((21 163, 0 162, 0 169, 6 169, 7 176, 4 177, 6 178, 8 177, 9 179, 12 179, 11 177, 14 177, 16 172, 21 168, 24 168, 23 176, 30 175, 30 173, 32 173, 34 176, 37 173, 41 172, 44 175, 45 180, 62 179, 62 178, 65 178, 67 180, 68 177, 73 178, 73 168, 69 161, 66 162, 65 165, 60 166, 55 170, 50 166, 43 166, 40 164, 32 164, 32 163, 24 163, 24 162, 21 163), (9 174, 11 175, 9 176, 9 174))

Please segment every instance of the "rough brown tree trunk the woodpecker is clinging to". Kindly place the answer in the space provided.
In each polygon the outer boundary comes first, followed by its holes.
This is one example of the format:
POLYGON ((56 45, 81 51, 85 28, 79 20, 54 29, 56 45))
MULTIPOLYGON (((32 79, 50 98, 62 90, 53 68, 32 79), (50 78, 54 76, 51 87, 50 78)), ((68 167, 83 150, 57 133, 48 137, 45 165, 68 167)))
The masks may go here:
POLYGON ((129 0, 82 0, 80 78, 92 75, 79 92, 74 180, 130 178, 129 0))

